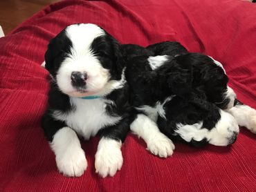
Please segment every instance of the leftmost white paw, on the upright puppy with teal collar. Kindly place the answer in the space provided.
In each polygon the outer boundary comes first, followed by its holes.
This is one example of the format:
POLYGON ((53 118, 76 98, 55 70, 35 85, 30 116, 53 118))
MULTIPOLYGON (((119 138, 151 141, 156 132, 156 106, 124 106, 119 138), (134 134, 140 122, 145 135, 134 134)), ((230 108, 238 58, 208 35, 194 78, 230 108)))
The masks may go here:
POLYGON ((82 148, 69 148, 64 154, 56 155, 57 168, 67 177, 81 176, 87 167, 87 161, 82 148))

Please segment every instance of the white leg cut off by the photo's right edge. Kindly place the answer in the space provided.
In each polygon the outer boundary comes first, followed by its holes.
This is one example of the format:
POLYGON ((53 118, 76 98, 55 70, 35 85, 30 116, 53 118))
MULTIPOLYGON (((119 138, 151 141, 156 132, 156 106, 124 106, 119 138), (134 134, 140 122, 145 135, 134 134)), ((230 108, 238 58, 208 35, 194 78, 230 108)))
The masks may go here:
POLYGON ((256 133, 256 110, 237 101, 235 106, 227 110, 237 120, 239 126, 245 126, 256 133))

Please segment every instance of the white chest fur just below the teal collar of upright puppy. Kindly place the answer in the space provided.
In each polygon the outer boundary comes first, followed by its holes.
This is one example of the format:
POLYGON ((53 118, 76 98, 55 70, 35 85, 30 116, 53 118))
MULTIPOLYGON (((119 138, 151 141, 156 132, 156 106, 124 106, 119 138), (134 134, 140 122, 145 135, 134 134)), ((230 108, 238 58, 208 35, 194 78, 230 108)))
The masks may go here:
POLYGON ((95 136, 100 128, 111 126, 120 121, 121 117, 112 117, 106 113, 107 99, 81 99, 71 97, 71 104, 75 110, 70 113, 54 111, 53 117, 72 127, 77 133, 88 140, 95 136))

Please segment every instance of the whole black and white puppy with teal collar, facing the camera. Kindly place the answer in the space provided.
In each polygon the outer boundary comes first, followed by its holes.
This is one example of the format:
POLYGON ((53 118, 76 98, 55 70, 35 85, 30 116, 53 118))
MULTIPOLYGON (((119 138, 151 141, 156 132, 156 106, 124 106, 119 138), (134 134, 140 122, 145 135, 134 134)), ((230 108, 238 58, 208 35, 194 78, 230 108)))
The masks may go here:
POLYGON ((52 79, 42 128, 58 170, 82 175, 87 162, 77 135, 88 140, 100 133, 95 170, 113 176, 131 122, 120 45, 94 24, 74 24, 51 40, 45 61, 52 79))

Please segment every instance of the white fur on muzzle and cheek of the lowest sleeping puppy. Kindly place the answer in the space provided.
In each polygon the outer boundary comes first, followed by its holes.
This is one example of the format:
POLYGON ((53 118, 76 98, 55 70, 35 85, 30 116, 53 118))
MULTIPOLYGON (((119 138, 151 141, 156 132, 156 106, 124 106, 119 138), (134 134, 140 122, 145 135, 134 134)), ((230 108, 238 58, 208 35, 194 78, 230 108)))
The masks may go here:
POLYGON ((199 122, 193 125, 177 124, 176 134, 179 134, 183 140, 190 142, 192 139, 201 141, 206 138, 210 144, 216 146, 227 146, 230 137, 239 132, 237 121, 232 115, 220 110, 221 119, 210 131, 203 128, 203 123, 199 122))

